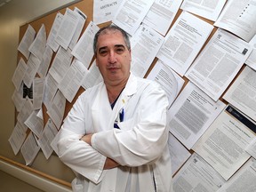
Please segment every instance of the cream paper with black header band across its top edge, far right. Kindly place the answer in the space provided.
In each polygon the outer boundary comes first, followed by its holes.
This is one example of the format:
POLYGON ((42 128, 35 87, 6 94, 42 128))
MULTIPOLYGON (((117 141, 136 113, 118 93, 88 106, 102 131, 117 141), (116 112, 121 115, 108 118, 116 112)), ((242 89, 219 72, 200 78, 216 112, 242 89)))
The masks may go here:
POLYGON ((249 158, 245 148, 254 140, 256 124, 228 106, 192 148, 228 180, 249 158))

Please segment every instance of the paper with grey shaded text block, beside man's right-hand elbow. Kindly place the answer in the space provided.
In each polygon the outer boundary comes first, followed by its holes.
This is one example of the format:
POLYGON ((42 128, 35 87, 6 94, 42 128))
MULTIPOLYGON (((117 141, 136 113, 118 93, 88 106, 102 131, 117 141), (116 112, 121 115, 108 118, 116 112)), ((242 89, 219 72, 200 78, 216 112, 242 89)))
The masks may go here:
POLYGON ((188 82, 168 110, 167 126, 169 131, 190 149, 225 106, 221 100, 215 102, 195 84, 188 82))

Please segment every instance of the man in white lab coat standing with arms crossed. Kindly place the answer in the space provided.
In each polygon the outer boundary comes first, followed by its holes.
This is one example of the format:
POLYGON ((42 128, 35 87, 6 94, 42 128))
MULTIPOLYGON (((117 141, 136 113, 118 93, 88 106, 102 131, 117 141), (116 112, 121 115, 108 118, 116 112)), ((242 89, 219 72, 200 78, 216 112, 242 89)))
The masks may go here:
POLYGON ((131 74, 121 28, 101 28, 93 49, 103 82, 79 96, 56 137, 60 160, 76 172, 73 190, 172 191, 167 96, 131 74))

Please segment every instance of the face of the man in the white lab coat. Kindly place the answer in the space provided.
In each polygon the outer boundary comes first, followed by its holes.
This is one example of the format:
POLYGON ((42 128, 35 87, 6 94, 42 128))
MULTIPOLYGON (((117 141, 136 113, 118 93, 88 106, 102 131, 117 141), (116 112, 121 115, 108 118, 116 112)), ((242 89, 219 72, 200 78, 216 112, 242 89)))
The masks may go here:
POLYGON ((127 81, 131 68, 131 51, 120 31, 108 31, 98 38, 96 64, 105 84, 116 85, 127 81))

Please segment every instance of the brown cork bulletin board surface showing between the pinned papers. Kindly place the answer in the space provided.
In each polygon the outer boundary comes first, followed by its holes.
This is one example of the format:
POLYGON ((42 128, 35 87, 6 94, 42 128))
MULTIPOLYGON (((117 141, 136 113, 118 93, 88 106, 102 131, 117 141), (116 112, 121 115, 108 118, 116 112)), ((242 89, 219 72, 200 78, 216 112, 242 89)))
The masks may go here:
MULTIPOLYGON (((87 20, 86 20, 86 22, 85 22, 85 24, 84 24, 84 28, 83 28, 83 32, 84 32, 85 28, 87 28, 87 26, 89 25, 90 21, 92 21, 93 0, 83 0, 83 1, 78 2, 78 3, 76 3, 76 4, 70 5, 68 8, 71 9, 71 10, 74 10, 75 7, 77 7, 79 10, 81 10, 82 12, 84 12, 84 14, 87 16, 87 20)), ((24 36, 24 34, 25 34, 25 32, 26 32, 26 30, 27 30, 27 28, 28 28, 28 24, 31 25, 31 26, 36 30, 36 32, 39 30, 39 28, 41 28, 42 24, 44 24, 45 29, 46 29, 46 34, 48 35, 48 34, 50 33, 51 28, 52 28, 52 24, 53 24, 53 21, 54 21, 54 19, 55 19, 55 16, 56 16, 56 14, 57 14, 58 12, 61 12, 62 14, 64 14, 64 13, 66 12, 66 8, 63 8, 63 9, 61 9, 61 10, 59 10, 59 11, 56 11, 56 12, 52 12, 52 13, 50 13, 50 14, 48 14, 48 15, 45 15, 45 16, 42 17, 42 18, 39 18, 39 19, 37 19, 37 20, 33 20, 33 21, 29 22, 29 23, 26 23, 26 24, 23 25, 23 26, 20 26, 20 40, 22 39, 22 37, 24 36)), ((178 13, 176 14, 174 20, 172 21, 172 25, 173 25, 173 23, 175 22, 175 20, 177 20, 177 18, 180 16, 180 13, 181 13, 181 12, 182 12, 182 10, 180 9, 180 10, 178 11, 178 13)), ((213 25, 213 21, 212 21, 212 20, 206 20, 206 19, 204 19, 204 18, 201 18, 201 19, 202 19, 202 20, 205 20, 206 22, 208 22, 208 23, 210 23, 210 24, 213 25)), ((110 22, 100 24, 99 27, 101 28, 101 27, 103 27, 103 26, 105 26, 105 25, 108 25, 109 23, 110 23, 110 22)), ((171 25, 170 28, 172 28, 172 25, 171 25)), ((170 29, 170 28, 169 28, 169 29, 170 29)), ((207 44, 207 42, 209 41, 209 39, 212 37, 212 35, 215 33, 216 30, 217 30, 217 28, 214 27, 213 30, 212 30, 211 35, 209 36, 209 38, 208 38, 208 40, 206 41, 205 44, 207 44)), ((82 34, 83 34, 83 32, 82 32, 82 34)), ((82 34, 81 34, 81 35, 82 35, 82 34)), ((205 44, 204 44, 204 46, 205 46, 205 44)), ((204 47, 203 47, 202 49, 204 49, 204 47)), ((201 49, 201 50, 202 50, 202 49, 201 49)), ((19 62, 20 58, 23 58, 24 60, 26 60, 26 58, 24 58, 24 56, 19 52, 19 53, 18 53, 18 62, 19 62)), ((53 60, 53 58, 54 58, 54 55, 53 55, 53 57, 52 57, 52 60, 53 60)), ((150 68, 148 69, 148 72, 147 72, 146 76, 148 76, 148 73, 150 72, 150 70, 151 70, 152 68, 154 68, 154 65, 156 64, 156 60, 157 60, 157 59, 155 59, 155 60, 152 62, 150 68)), ((240 72, 243 70, 243 68, 244 68, 244 66, 241 68, 240 72)), ((239 73, 240 73, 240 72, 239 72, 239 73)), ((239 73, 237 74, 237 76, 239 75, 239 73)), ((188 79, 186 78, 186 76, 183 76, 182 78, 185 80, 185 84, 183 85, 183 88, 184 88, 185 85, 188 84, 188 79)), ((236 78, 235 78, 235 79, 236 79, 236 78)), ((64 118, 65 118, 65 116, 67 116, 68 111, 70 110, 70 108, 72 108, 72 106, 73 106, 74 102, 76 101, 77 97, 78 97, 82 92, 84 92, 84 88, 83 88, 83 87, 80 87, 80 89, 79 89, 78 92, 76 93, 75 99, 72 100, 72 102, 68 102, 68 101, 67 101, 66 108, 65 108, 64 118)), ((182 92, 182 90, 181 90, 181 92, 182 92)), ((224 92, 224 93, 225 93, 225 92, 224 92)), ((224 93, 223 93, 223 94, 224 94, 224 93)), ((220 100, 222 100, 222 101, 225 102, 226 104, 228 103, 227 101, 223 100, 222 97, 220 97, 220 100)), ((48 116, 47 113, 46 113, 46 108, 45 108, 44 105, 43 105, 43 115, 44 115, 44 124, 46 124, 46 122, 47 122, 49 116, 48 116)), ((191 150, 190 153, 193 154, 194 151, 191 150)), ((41 151, 39 152, 39 155, 38 155, 38 156, 41 156, 41 157, 40 157, 40 158, 39 158, 39 157, 36 157, 35 163, 33 163, 33 164, 31 165, 31 167, 28 167, 29 171, 35 170, 36 173, 42 174, 42 175, 44 175, 44 176, 46 175, 46 177, 49 177, 49 178, 51 178, 52 180, 55 180, 55 179, 56 179, 57 181, 60 181, 60 182, 63 181, 64 184, 66 184, 66 185, 69 186, 69 182, 75 177, 75 176, 74 176, 74 173, 71 172, 68 167, 66 167, 64 164, 62 164, 62 163, 60 162, 60 160, 58 159, 58 156, 52 154, 52 156, 50 157, 49 160, 44 160, 44 157, 42 157, 42 152, 41 152, 41 151), (41 155, 40 155, 40 154, 41 154, 41 155), (42 159, 43 159, 43 160, 42 160, 42 159), (51 167, 51 164, 58 164, 58 166, 55 166, 53 169, 51 168, 52 170, 44 169, 44 168, 42 167, 42 165, 40 165, 40 164, 42 164, 42 161, 43 161, 44 166, 46 166, 46 167, 51 167), (59 174, 59 173, 56 173, 56 172, 59 172, 60 174, 59 174), (64 173, 64 174, 63 174, 63 173, 64 173)), ((54 166, 54 165, 53 165, 53 166, 54 166)), ((24 166, 24 167, 26 168, 26 166, 24 166)), ((23 167, 23 168, 24 168, 24 167, 23 167)))

